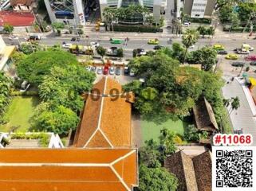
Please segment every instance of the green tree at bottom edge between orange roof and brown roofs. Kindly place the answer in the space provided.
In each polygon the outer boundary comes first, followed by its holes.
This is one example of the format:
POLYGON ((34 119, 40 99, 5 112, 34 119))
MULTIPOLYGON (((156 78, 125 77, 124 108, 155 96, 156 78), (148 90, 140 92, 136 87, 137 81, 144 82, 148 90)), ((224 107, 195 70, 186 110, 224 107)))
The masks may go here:
POLYGON ((140 191, 170 191, 178 187, 178 179, 164 168, 140 166, 140 191))

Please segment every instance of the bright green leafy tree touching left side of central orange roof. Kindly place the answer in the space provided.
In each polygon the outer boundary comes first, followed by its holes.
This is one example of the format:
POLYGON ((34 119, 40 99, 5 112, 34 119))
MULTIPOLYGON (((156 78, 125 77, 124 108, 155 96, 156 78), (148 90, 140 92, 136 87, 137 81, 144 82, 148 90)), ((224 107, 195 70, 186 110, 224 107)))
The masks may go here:
POLYGON ((95 73, 86 71, 80 65, 66 68, 53 67, 39 85, 39 96, 53 105, 63 105, 79 113, 83 106, 82 92, 89 92, 95 80, 95 73))

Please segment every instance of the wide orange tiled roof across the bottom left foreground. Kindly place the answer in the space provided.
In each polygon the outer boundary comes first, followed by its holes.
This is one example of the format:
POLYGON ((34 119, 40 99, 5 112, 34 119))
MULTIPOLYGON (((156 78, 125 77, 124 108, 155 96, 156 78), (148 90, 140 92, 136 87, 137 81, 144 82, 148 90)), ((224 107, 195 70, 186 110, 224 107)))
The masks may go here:
POLYGON ((128 191, 137 185, 132 149, 2 149, 1 191, 128 191))

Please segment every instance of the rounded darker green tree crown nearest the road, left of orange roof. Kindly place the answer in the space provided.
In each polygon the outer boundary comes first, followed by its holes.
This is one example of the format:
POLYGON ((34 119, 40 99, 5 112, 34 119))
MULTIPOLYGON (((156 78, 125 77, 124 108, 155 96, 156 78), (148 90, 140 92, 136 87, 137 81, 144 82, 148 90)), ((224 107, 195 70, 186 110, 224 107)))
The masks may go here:
POLYGON ((41 84, 43 77, 49 74, 53 66, 66 67, 67 65, 78 64, 77 58, 65 51, 37 51, 28 57, 18 61, 18 76, 28 80, 32 84, 41 84))

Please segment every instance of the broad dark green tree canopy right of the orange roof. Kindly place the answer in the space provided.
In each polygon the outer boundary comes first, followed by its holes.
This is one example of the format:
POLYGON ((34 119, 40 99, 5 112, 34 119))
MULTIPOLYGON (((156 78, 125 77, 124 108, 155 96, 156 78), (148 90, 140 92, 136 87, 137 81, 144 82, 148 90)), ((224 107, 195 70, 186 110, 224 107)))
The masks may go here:
MULTIPOLYGON (((211 52, 208 48, 205 49, 206 51, 203 49, 203 55, 208 51, 211 52)), ((165 53, 177 57, 173 50, 160 50, 156 55, 137 57, 129 63, 129 67, 136 71, 136 75, 145 79, 144 84, 133 82, 133 84, 124 86, 124 89, 134 88, 135 107, 140 113, 147 115, 173 113, 185 116, 188 115, 200 95, 206 96, 214 107, 217 105, 221 107, 223 99, 219 91, 223 86, 223 81, 218 73, 199 71, 191 67, 179 67, 179 61, 165 53), (141 95, 140 92, 147 88, 156 94, 154 99, 141 95)), ((211 57, 209 59, 211 60, 211 57)), ((207 69, 211 66, 207 65, 208 61, 205 63, 207 69)))

